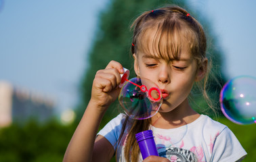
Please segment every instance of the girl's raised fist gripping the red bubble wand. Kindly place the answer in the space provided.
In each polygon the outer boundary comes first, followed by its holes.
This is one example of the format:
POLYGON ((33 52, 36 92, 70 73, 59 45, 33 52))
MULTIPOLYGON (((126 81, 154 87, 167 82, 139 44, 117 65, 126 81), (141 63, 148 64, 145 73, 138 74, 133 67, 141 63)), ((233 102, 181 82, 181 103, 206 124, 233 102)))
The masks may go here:
POLYGON ((94 105, 105 111, 119 96, 123 66, 116 61, 110 61, 104 70, 99 70, 93 80, 91 100, 94 105))

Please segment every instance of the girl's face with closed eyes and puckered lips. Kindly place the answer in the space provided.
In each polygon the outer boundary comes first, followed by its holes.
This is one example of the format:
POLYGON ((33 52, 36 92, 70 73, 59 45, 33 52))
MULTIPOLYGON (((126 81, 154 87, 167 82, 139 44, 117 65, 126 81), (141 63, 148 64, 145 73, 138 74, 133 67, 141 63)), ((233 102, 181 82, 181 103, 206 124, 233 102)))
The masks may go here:
POLYGON ((202 80, 205 74, 207 59, 202 65, 190 54, 190 51, 183 49, 177 56, 179 59, 169 57, 163 59, 152 54, 152 49, 147 52, 138 51, 133 54, 135 59, 134 69, 137 76, 152 80, 161 89, 163 104, 160 112, 169 112, 179 106, 189 106, 186 99, 195 81, 202 80))

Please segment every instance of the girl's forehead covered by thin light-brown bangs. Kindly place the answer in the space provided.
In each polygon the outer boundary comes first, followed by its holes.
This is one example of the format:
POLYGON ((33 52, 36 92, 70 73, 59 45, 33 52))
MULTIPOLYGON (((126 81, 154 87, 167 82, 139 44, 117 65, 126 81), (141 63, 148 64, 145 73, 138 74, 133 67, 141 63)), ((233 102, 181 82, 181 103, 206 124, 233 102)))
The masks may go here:
POLYGON ((170 33, 157 27, 148 28, 140 34, 136 53, 144 58, 166 60, 186 60, 192 57, 189 42, 183 33, 170 33))

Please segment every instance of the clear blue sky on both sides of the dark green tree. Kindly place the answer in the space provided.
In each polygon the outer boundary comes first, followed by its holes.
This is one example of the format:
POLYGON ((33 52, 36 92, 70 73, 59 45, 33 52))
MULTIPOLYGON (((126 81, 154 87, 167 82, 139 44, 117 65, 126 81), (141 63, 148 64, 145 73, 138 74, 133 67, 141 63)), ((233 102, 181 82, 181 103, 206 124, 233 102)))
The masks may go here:
MULTIPOLYGON (((0 0, 0 80, 74 107, 100 9, 109 0, 0 0)), ((256 1, 188 0, 213 26, 228 78, 256 77, 256 1)), ((113 58, 114 59, 114 58, 113 58)))

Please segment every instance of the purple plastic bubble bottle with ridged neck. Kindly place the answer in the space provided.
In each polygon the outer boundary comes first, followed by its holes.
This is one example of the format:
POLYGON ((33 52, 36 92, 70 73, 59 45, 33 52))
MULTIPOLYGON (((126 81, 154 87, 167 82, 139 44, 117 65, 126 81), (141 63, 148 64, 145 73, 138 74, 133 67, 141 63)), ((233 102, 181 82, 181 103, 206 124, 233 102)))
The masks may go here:
POLYGON ((146 159, 146 157, 150 155, 159 156, 152 130, 137 133, 135 134, 135 138, 140 146, 140 152, 142 153, 143 159, 146 159))

